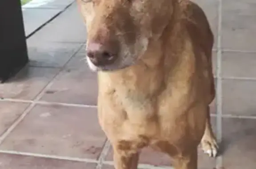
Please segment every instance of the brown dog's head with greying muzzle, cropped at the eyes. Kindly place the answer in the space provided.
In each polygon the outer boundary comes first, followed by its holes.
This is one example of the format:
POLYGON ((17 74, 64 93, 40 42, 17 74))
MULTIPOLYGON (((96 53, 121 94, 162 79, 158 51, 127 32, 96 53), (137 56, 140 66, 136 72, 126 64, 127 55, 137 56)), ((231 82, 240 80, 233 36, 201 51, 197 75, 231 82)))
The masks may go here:
POLYGON ((94 70, 129 67, 168 24, 174 0, 78 0, 88 31, 87 61, 94 70))

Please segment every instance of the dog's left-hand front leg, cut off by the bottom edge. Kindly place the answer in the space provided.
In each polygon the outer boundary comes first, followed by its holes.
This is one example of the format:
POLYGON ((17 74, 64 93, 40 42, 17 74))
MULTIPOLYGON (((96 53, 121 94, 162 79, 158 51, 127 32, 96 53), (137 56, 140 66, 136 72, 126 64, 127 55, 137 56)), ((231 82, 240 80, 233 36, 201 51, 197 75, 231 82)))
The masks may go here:
POLYGON ((115 169, 137 169, 139 153, 113 146, 115 169))

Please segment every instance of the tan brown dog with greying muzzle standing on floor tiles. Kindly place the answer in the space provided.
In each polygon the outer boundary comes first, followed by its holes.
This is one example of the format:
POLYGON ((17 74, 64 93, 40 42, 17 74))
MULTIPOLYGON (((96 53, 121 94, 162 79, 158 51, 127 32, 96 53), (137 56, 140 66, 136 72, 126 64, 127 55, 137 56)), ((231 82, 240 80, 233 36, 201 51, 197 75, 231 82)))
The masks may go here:
POLYGON ((176 169, 197 169, 200 142, 216 156, 213 35, 202 9, 188 0, 78 2, 115 168, 136 169, 145 146, 168 153, 176 169))

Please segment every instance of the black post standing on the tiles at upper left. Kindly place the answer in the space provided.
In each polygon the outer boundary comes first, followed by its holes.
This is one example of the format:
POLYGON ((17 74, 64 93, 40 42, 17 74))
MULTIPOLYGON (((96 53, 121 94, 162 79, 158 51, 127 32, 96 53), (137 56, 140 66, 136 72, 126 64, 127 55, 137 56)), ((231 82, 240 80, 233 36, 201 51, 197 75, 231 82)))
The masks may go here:
POLYGON ((0 83, 28 63, 20 0, 0 0, 0 83))

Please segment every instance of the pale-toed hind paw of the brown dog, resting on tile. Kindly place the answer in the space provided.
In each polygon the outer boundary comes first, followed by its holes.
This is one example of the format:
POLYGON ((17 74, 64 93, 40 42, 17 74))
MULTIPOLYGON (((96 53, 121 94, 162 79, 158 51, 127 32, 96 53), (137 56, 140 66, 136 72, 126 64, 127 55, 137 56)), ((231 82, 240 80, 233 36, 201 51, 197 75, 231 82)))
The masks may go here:
POLYGON ((209 157, 216 157, 218 153, 218 145, 215 139, 211 139, 211 141, 202 140, 201 146, 204 153, 208 154, 209 157))

